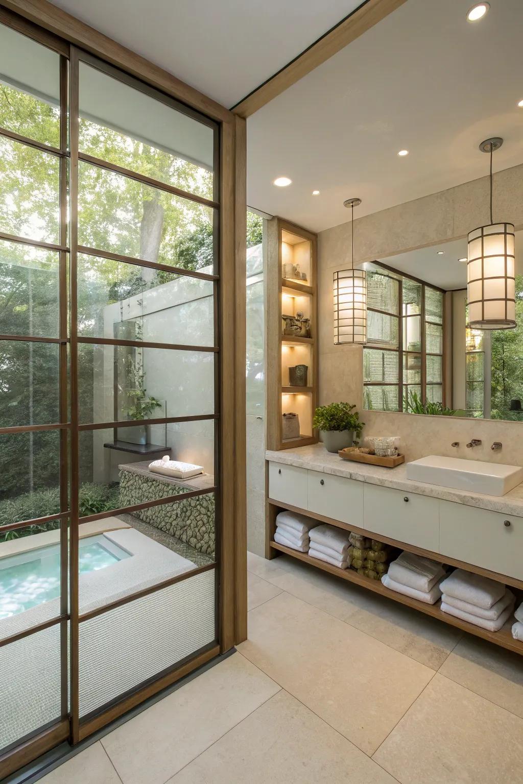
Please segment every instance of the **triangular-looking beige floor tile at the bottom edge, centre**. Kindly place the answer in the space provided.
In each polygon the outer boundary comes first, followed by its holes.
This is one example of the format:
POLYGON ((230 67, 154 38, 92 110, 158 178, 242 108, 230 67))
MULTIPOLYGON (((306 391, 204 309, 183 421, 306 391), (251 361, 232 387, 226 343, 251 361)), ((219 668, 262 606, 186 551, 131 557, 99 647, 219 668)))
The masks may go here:
POLYGON ((251 713, 169 784, 394 784, 286 691, 251 713))

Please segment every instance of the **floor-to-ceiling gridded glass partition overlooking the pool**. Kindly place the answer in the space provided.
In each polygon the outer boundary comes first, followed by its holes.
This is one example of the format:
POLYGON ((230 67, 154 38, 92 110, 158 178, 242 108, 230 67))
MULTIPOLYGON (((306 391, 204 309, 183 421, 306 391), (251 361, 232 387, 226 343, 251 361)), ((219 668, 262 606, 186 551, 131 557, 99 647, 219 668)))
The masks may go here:
POLYGON ((2 763, 216 653, 220 127, 0 38, 2 763))

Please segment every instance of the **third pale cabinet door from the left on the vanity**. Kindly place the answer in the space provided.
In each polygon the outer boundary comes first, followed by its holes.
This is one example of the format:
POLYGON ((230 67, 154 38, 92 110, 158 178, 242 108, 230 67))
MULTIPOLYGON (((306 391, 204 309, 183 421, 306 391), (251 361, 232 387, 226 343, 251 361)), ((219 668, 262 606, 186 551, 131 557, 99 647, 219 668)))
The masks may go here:
POLYGON ((438 499, 368 484, 363 497, 363 527, 369 532, 438 552, 438 499))

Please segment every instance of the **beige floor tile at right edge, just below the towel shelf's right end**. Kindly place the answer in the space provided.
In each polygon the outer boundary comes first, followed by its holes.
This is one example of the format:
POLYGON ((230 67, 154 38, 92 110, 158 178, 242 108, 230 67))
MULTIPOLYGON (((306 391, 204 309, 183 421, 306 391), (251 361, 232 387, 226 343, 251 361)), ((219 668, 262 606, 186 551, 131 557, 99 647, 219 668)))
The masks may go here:
POLYGON ((521 655, 467 634, 441 666, 440 673, 523 718, 521 655))

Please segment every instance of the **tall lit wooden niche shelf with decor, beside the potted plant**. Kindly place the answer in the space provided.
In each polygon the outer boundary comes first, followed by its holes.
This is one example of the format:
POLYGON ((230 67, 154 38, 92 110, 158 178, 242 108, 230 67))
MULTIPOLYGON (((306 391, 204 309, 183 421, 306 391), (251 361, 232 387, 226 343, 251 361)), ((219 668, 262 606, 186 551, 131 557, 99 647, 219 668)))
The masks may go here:
MULTIPOLYGON (((267 274, 267 448, 289 449, 316 444, 312 419, 318 397, 318 297, 316 254, 318 238, 299 226, 275 217, 268 226, 267 274), (309 319, 310 337, 284 334, 309 319), (289 368, 307 365, 303 386, 291 386, 289 368), (296 413, 300 435, 283 437, 283 414, 296 413)), ((305 331, 303 325, 301 331, 305 331)))

